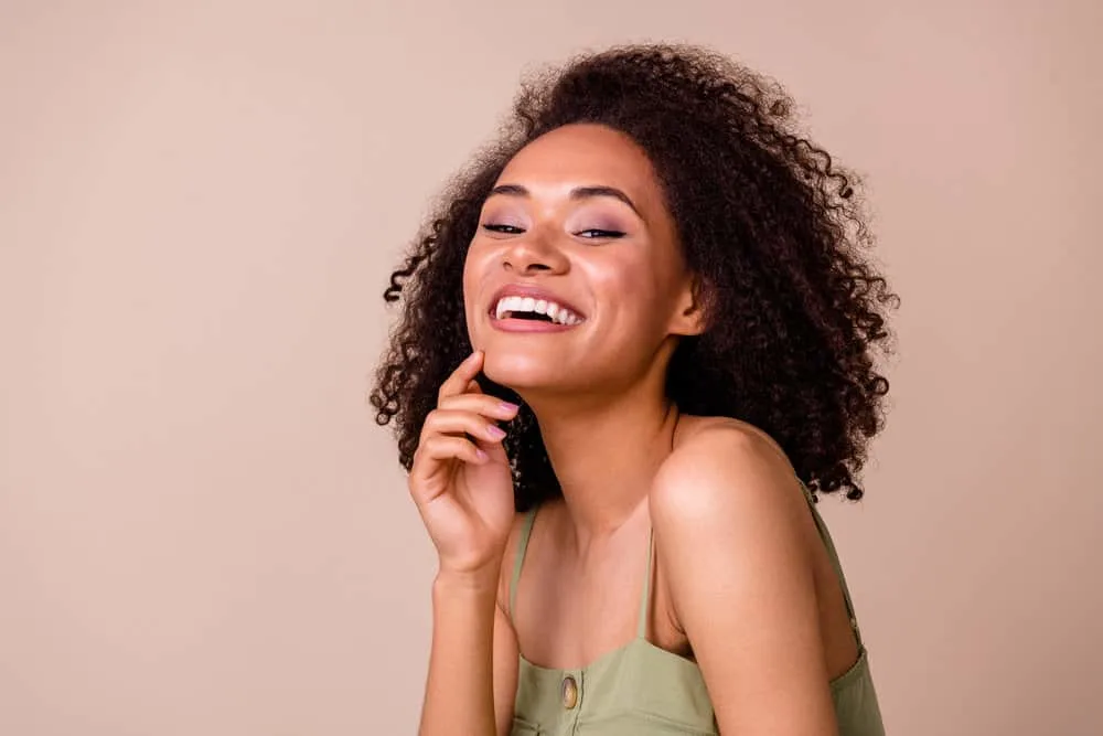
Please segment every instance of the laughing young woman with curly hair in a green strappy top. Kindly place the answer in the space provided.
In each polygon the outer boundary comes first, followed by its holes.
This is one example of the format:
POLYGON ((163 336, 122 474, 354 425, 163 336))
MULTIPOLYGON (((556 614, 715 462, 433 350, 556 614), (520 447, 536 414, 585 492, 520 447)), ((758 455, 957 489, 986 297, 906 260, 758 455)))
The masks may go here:
POLYGON ((895 297, 773 84, 633 46, 531 81, 387 301, 439 554, 421 734, 881 734, 817 493, 861 497, 895 297))

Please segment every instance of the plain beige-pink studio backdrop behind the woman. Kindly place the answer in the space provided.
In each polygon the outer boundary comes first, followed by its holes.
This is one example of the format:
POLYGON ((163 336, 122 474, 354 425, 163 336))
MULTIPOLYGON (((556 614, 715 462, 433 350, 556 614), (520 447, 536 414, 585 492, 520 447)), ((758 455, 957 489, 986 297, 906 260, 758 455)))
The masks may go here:
POLYGON ((825 509, 890 733, 1103 733, 1101 3, 474 7, 0 2, 0 734, 413 733, 379 292, 522 67, 643 39, 868 178, 900 359, 825 509))

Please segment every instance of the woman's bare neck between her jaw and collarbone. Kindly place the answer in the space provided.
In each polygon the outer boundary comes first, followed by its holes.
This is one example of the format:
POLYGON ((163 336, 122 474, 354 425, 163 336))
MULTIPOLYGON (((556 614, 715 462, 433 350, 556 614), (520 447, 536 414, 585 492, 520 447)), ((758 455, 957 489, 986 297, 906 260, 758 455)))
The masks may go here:
POLYGON ((533 408, 578 540, 607 536, 644 506, 678 419, 661 381, 533 408))

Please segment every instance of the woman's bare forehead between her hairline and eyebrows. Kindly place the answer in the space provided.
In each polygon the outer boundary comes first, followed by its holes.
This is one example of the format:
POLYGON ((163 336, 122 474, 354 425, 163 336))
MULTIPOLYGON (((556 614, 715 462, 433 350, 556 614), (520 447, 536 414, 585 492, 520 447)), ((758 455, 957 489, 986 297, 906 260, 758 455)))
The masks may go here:
POLYGON ((609 185, 640 203, 661 201, 654 167, 630 137, 600 125, 556 128, 523 148, 506 164, 499 183, 526 186, 609 185))

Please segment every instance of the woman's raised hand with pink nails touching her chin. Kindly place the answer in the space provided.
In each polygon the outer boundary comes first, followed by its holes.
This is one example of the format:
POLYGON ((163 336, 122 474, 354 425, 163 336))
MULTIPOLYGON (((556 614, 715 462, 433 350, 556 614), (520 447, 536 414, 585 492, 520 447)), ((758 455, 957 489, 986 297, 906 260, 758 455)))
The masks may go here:
POLYGON ((483 353, 472 353, 441 385, 409 473, 441 572, 496 569, 513 524, 513 476, 496 422, 517 407, 482 393, 474 380, 482 364, 483 353))

